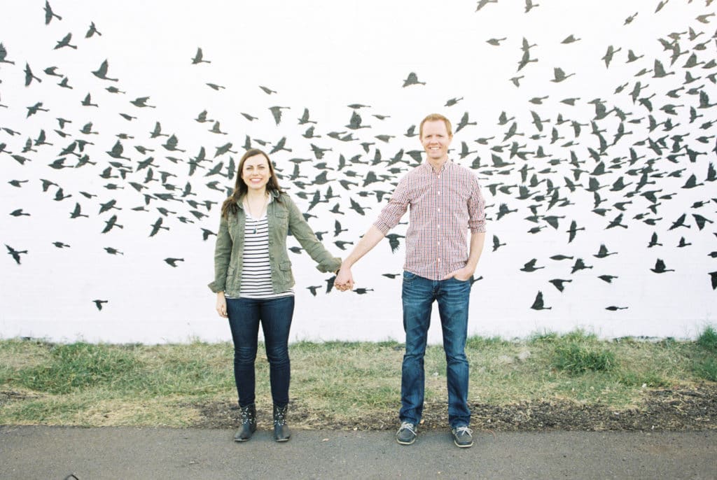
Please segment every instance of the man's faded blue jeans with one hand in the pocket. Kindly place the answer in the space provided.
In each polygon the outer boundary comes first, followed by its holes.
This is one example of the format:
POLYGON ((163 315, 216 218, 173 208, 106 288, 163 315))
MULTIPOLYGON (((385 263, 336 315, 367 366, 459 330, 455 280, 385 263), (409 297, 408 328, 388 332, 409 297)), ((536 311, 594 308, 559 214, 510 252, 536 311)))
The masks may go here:
POLYGON ((465 357, 469 299, 470 280, 429 280, 404 272, 402 300, 406 353, 401 378, 401 421, 414 425, 421 421, 425 389, 423 357, 435 300, 438 302, 447 363, 448 423, 451 428, 470 424, 468 360, 465 357))

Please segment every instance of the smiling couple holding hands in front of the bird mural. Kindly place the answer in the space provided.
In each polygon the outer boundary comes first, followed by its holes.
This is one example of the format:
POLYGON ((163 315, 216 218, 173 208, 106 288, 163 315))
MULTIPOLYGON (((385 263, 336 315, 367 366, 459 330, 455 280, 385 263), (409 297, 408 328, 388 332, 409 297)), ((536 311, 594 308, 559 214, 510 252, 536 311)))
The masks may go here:
POLYGON ((256 430, 254 364, 260 324, 270 365, 274 439, 288 441, 291 436, 288 339, 294 278, 286 247, 288 231, 321 272, 336 272, 334 286, 346 291, 353 289, 351 266, 409 210, 402 284, 406 351, 396 440, 410 445, 417 436, 424 403, 423 358, 436 301, 447 362, 450 431, 457 446, 473 445, 465 342, 470 280, 485 239, 485 201, 475 174, 448 156, 450 121, 443 115, 428 115, 419 133, 425 162, 401 179, 379 218, 343 261, 323 247, 298 207, 280 189, 266 153, 248 150, 239 161, 234 191, 222 204, 214 282, 209 284, 217 293, 217 313, 229 320, 234 342, 234 380, 242 413, 235 441, 249 440, 256 430))

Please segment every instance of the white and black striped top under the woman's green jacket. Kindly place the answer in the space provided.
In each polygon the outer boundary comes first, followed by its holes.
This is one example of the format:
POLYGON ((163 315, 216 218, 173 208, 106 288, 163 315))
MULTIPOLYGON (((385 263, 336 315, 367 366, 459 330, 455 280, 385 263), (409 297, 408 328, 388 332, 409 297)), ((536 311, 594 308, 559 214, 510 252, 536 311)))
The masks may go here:
POLYGON ((242 266, 241 298, 277 298, 293 295, 293 289, 274 293, 269 264, 269 221, 266 213, 252 219, 247 212, 244 224, 244 255, 242 266))

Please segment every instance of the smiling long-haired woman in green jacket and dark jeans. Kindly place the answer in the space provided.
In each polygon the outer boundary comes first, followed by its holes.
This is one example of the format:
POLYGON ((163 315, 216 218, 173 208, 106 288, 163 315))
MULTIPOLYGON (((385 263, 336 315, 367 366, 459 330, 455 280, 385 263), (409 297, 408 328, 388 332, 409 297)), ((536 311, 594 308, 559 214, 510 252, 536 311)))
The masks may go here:
POLYGON ((274 402, 274 439, 288 441, 289 329, 294 312, 294 277, 286 237, 294 238, 318 264, 320 272, 336 272, 341 259, 320 244, 302 213, 281 191, 266 153, 252 149, 239 160, 234 192, 222 204, 222 219, 214 250, 217 312, 229 318, 234 341, 234 380, 237 383, 242 428, 234 441, 247 441, 257 428, 255 369, 257 335, 262 325, 270 366, 274 402))

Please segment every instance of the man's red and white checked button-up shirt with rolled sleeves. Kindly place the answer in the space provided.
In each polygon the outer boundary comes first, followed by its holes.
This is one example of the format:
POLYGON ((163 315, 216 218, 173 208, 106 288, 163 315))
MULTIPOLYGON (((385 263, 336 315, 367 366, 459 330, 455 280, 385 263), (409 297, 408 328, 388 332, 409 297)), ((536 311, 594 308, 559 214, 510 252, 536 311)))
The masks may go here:
POLYGON ((485 200, 473 171, 447 160, 422 163, 401 179, 374 223, 384 235, 410 206, 404 269, 432 280, 465 267, 468 235, 485 232, 485 200))

